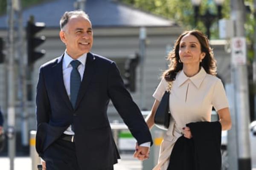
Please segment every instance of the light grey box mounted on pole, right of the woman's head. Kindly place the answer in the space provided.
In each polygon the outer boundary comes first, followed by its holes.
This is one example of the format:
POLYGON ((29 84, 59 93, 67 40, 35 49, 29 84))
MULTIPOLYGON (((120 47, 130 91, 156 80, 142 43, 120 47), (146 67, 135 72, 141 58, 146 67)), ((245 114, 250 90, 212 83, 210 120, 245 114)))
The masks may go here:
POLYGON ((221 39, 230 39, 234 35, 234 21, 221 19, 219 20, 219 37, 221 39))

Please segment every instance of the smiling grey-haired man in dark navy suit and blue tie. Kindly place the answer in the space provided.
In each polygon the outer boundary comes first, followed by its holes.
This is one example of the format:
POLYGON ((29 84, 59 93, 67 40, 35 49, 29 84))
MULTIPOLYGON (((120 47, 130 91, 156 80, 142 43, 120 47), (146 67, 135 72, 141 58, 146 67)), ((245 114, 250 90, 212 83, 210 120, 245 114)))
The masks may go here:
POLYGON ((40 68, 37 95, 36 150, 47 170, 113 170, 119 153, 107 118, 111 99, 137 139, 134 154, 145 159, 151 134, 124 88, 116 64, 90 53, 93 29, 83 11, 61 17, 66 50, 40 68))

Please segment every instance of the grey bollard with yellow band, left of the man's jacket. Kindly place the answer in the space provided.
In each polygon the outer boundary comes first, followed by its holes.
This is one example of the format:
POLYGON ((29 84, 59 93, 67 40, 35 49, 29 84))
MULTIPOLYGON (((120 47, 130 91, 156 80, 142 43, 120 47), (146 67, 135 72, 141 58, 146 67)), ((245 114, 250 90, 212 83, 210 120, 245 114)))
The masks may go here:
POLYGON ((29 140, 29 145, 30 145, 30 158, 32 161, 32 170, 38 170, 38 164, 41 163, 41 159, 38 156, 38 153, 35 150, 35 135, 36 131, 31 130, 30 131, 30 140, 29 140))

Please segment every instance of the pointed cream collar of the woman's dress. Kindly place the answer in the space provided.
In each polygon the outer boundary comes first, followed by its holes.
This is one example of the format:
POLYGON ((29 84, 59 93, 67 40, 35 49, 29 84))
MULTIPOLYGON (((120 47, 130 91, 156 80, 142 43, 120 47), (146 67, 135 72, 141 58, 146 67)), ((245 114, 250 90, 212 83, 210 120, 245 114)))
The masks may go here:
POLYGON ((177 75, 177 82, 178 86, 182 85, 184 82, 186 82, 188 79, 192 81, 192 83, 199 88, 201 83, 204 80, 204 77, 206 76, 206 71, 203 67, 201 67, 200 71, 193 77, 187 77, 186 74, 184 74, 184 71, 180 71, 180 73, 177 75))

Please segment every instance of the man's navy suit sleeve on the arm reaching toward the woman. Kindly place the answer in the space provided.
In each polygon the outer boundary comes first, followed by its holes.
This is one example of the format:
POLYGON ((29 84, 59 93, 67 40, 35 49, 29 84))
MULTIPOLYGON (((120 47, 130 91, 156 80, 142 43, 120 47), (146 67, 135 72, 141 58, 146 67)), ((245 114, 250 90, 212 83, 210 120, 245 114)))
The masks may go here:
POLYGON ((150 131, 140 109, 125 89, 119 70, 114 62, 111 64, 108 73, 108 95, 132 135, 137 139, 138 144, 145 142, 153 144, 150 131))

